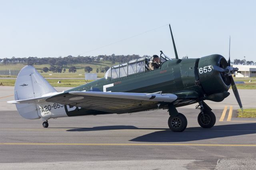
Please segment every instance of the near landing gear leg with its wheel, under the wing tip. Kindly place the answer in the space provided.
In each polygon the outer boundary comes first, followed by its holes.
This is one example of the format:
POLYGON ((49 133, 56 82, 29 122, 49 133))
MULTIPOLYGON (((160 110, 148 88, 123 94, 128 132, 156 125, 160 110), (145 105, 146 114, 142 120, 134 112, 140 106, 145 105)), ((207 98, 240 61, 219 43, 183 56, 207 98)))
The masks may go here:
POLYGON ((173 132, 183 132, 187 125, 188 121, 182 113, 178 113, 173 104, 168 105, 169 119, 168 126, 173 132))

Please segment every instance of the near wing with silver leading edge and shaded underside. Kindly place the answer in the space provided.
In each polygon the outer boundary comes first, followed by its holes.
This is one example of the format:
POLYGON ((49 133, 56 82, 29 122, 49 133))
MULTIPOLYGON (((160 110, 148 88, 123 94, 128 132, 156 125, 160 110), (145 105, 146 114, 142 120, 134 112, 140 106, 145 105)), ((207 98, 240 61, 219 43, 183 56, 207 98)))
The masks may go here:
POLYGON ((176 99, 174 94, 72 91, 49 97, 46 102, 109 113, 131 113, 157 108, 158 103, 172 103, 176 99))

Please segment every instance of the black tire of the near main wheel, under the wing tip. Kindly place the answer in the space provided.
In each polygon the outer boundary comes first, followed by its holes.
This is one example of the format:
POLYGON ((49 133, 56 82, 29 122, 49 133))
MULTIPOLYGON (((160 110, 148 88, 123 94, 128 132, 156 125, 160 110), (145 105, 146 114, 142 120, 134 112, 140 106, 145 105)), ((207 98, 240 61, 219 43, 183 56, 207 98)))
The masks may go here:
POLYGON ((168 126, 173 132, 183 132, 188 125, 186 117, 179 113, 176 117, 169 117, 168 126))

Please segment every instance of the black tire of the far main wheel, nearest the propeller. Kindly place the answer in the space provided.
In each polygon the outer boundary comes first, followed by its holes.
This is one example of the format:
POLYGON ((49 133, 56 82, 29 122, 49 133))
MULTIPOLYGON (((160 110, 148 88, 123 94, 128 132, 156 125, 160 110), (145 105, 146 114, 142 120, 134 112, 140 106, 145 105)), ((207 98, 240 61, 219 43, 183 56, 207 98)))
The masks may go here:
POLYGON ((200 112, 197 117, 198 124, 202 128, 211 128, 216 123, 216 117, 212 111, 204 111, 204 119, 203 115, 200 112))

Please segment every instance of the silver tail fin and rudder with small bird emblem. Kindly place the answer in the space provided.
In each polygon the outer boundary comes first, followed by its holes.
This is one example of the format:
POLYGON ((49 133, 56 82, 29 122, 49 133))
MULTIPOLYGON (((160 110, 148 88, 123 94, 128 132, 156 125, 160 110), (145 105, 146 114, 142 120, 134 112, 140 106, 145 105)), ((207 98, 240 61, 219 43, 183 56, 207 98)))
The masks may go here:
MULTIPOLYGON (((15 100, 42 97, 54 92, 57 91, 33 66, 27 65, 20 70, 14 86, 15 100)), ((16 104, 16 108, 25 119, 40 119, 36 103, 16 104)))

